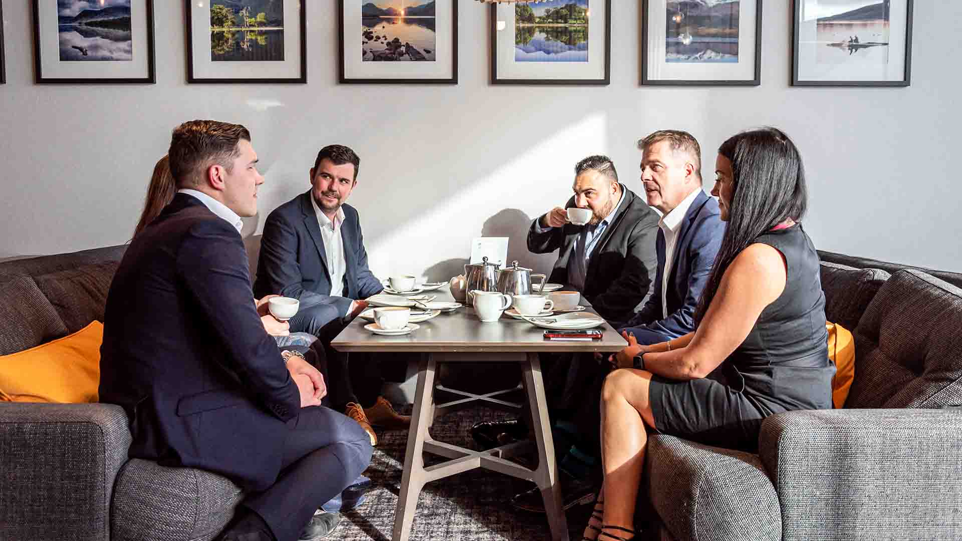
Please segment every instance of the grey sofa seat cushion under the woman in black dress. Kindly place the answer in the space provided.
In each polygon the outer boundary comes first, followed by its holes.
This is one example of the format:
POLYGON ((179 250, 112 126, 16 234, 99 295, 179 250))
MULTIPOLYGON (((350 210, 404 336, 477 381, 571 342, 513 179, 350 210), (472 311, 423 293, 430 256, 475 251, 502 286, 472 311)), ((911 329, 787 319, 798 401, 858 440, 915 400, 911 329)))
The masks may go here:
POLYGON ((758 455, 652 435, 646 491, 677 539, 780 540, 781 509, 758 455))

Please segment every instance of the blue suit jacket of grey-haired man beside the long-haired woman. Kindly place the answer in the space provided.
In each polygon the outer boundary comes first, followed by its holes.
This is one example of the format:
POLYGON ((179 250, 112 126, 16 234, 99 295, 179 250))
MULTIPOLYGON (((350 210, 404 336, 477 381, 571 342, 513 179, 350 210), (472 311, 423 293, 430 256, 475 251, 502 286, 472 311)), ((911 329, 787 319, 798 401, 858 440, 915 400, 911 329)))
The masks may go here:
POLYGON ((642 310, 626 327, 645 327, 667 338, 676 338, 695 330, 695 311, 722 247, 725 224, 719 203, 701 191, 678 226, 675 256, 668 276, 668 318, 662 310, 662 281, 665 275, 665 233, 658 228, 655 250, 658 270, 655 288, 642 310))

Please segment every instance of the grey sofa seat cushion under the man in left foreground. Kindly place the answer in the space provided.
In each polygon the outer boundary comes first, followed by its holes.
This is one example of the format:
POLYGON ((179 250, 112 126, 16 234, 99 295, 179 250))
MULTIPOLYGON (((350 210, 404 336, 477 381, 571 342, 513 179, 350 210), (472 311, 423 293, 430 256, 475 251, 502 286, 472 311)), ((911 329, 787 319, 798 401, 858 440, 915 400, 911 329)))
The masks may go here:
POLYGON ((111 539, 206 541, 234 516, 241 489, 227 477, 131 459, 114 485, 111 539))

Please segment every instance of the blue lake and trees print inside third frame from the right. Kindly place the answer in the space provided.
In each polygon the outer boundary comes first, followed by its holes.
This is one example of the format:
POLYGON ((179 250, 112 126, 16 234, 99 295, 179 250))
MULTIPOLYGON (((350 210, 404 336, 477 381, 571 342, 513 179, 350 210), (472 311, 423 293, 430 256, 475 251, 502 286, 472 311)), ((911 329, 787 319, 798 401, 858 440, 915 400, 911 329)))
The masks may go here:
POLYGON ((515 4, 515 62, 588 62, 588 0, 515 4))

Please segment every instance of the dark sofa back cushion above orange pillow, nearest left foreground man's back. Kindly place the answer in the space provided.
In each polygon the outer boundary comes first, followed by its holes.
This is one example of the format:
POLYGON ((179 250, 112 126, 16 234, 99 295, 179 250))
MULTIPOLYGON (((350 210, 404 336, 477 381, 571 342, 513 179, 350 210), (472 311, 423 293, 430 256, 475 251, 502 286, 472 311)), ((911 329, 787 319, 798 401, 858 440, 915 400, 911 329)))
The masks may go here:
POLYGON ((43 295, 60 314, 69 332, 104 321, 107 292, 117 263, 84 265, 76 269, 58 270, 35 277, 43 295))

